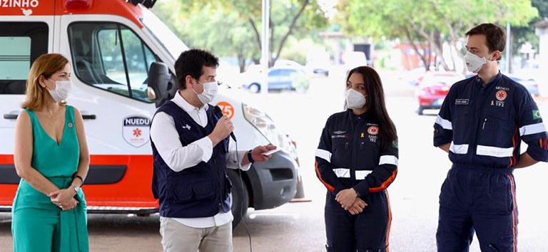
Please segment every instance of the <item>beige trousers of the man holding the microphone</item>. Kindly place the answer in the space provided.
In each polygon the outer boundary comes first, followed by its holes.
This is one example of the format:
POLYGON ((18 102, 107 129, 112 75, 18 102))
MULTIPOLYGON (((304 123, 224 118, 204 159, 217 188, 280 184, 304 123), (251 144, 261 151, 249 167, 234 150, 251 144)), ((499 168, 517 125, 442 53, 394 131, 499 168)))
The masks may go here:
POLYGON ((232 221, 198 229, 161 218, 160 234, 165 252, 232 252, 232 221))

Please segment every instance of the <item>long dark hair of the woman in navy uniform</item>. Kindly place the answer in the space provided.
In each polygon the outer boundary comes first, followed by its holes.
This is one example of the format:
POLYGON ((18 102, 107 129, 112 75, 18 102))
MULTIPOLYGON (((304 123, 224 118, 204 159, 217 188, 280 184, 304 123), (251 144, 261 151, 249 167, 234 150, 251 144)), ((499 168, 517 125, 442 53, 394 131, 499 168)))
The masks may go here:
MULTIPOLYGON (((346 83, 350 79, 352 73, 361 73, 365 90, 367 90, 367 105, 369 105, 370 115, 377 118, 380 128, 380 147, 385 149, 392 144, 392 141, 397 140, 396 126, 386 110, 385 91, 382 88, 380 76, 375 69, 368 66, 359 66, 350 70, 346 77, 346 83)), ((345 84, 346 84, 345 83, 345 84)))

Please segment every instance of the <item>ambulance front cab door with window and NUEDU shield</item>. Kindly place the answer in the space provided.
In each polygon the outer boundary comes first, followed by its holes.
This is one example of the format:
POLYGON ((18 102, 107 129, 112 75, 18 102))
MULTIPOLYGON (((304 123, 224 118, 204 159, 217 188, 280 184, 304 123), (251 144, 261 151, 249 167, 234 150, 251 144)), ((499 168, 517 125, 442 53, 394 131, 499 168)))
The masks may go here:
POLYGON ((157 56, 136 32, 138 26, 118 16, 61 17, 61 52, 73 65, 68 103, 82 113, 91 154, 84 186, 91 210, 157 206, 148 130, 156 106, 146 95, 157 56))

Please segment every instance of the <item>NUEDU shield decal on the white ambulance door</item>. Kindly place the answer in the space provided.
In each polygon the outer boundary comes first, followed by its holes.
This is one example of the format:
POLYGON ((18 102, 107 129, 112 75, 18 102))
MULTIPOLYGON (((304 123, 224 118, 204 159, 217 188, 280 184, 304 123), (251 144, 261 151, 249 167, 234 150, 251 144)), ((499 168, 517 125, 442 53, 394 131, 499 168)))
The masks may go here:
POLYGON ((133 115, 123 118, 123 140, 136 148, 146 145, 151 139, 150 126, 151 119, 148 117, 133 115))

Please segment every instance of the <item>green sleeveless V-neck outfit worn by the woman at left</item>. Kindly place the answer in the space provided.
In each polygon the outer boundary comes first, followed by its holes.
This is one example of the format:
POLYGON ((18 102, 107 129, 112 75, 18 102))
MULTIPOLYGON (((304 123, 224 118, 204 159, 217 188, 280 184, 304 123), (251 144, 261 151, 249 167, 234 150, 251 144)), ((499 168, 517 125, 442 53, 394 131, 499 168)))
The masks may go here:
MULTIPOLYGON (((59 189, 70 187, 80 159, 73 107, 66 105, 59 145, 47 135, 34 112, 25 111, 31 118, 34 136, 32 167, 59 189)), ((14 251, 89 251, 86 200, 81 189, 75 198, 80 202, 76 208, 62 211, 49 196, 21 179, 11 210, 14 251)))

